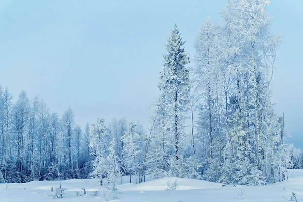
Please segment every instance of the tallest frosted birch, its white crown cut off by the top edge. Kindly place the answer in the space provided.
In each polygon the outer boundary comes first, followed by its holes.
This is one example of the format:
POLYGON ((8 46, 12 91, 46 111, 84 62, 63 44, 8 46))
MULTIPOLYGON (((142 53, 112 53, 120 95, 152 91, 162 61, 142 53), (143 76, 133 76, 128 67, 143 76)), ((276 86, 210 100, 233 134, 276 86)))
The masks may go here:
POLYGON ((248 100, 253 107, 250 119, 254 124, 257 145, 257 165, 261 170, 262 137, 260 134, 260 106, 258 106, 258 75, 264 68, 260 61, 262 55, 263 39, 270 35, 270 17, 265 11, 267 0, 231 0, 222 12, 228 29, 232 30, 241 55, 242 73, 246 75, 247 84, 250 86, 248 100))

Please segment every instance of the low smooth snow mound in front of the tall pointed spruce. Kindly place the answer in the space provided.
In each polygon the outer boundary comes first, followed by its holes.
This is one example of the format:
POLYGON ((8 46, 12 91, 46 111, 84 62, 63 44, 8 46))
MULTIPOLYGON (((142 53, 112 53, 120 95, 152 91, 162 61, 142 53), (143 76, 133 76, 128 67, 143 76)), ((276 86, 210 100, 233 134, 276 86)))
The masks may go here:
POLYGON ((191 190, 191 189, 212 189, 222 187, 218 183, 208 182, 203 180, 195 180, 188 178, 178 178, 178 177, 165 177, 149 182, 143 182, 141 184, 136 184, 132 186, 121 186, 119 187, 122 191, 164 191, 167 189, 167 182, 171 180, 177 180, 177 190, 191 190))

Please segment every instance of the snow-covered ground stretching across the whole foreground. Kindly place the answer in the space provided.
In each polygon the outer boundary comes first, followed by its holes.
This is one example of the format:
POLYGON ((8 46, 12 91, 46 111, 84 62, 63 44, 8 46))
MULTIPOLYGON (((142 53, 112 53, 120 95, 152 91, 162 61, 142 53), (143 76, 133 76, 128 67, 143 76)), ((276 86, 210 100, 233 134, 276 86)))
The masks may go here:
MULTIPOLYGON (((195 202, 195 201, 212 201, 212 202, 235 202, 235 201, 253 201, 253 202, 287 202, 282 196, 290 199, 291 192, 297 193, 303 201, 303 170, 290 170, 290 179, 266 186, 226 186, 201 180, 172 178, 178 180, 177 190, 166 191, 167 181, 170 178, 163 178, 144 182, 141 184, 124 183, 118 185, 121 190, 117 195, 118 200, 115 202, 195 202), (239 194, 242 196, 239 196, 239 194)), ((123 179, 126 181, 127 179, 123 179)), ((92 180, 65 180, 62 186, 68 188, 64 198, 56 199, 62 202, 66 201, 102 201, 91 194, 97 190, 92 180), (81 187, 87 190, 87 195, 76 197, 76 192, 83 194, 81 187)), ((1 202, 47 202, 54 201, 48 196, 51 193, 51 187, 58 186, 58 181, 33 181, 24 184, 8 184, 7 190, 4 184, 0 184, 0 201, 1 202)), ((55 200, 55 201, 56 201, 55 200)))

